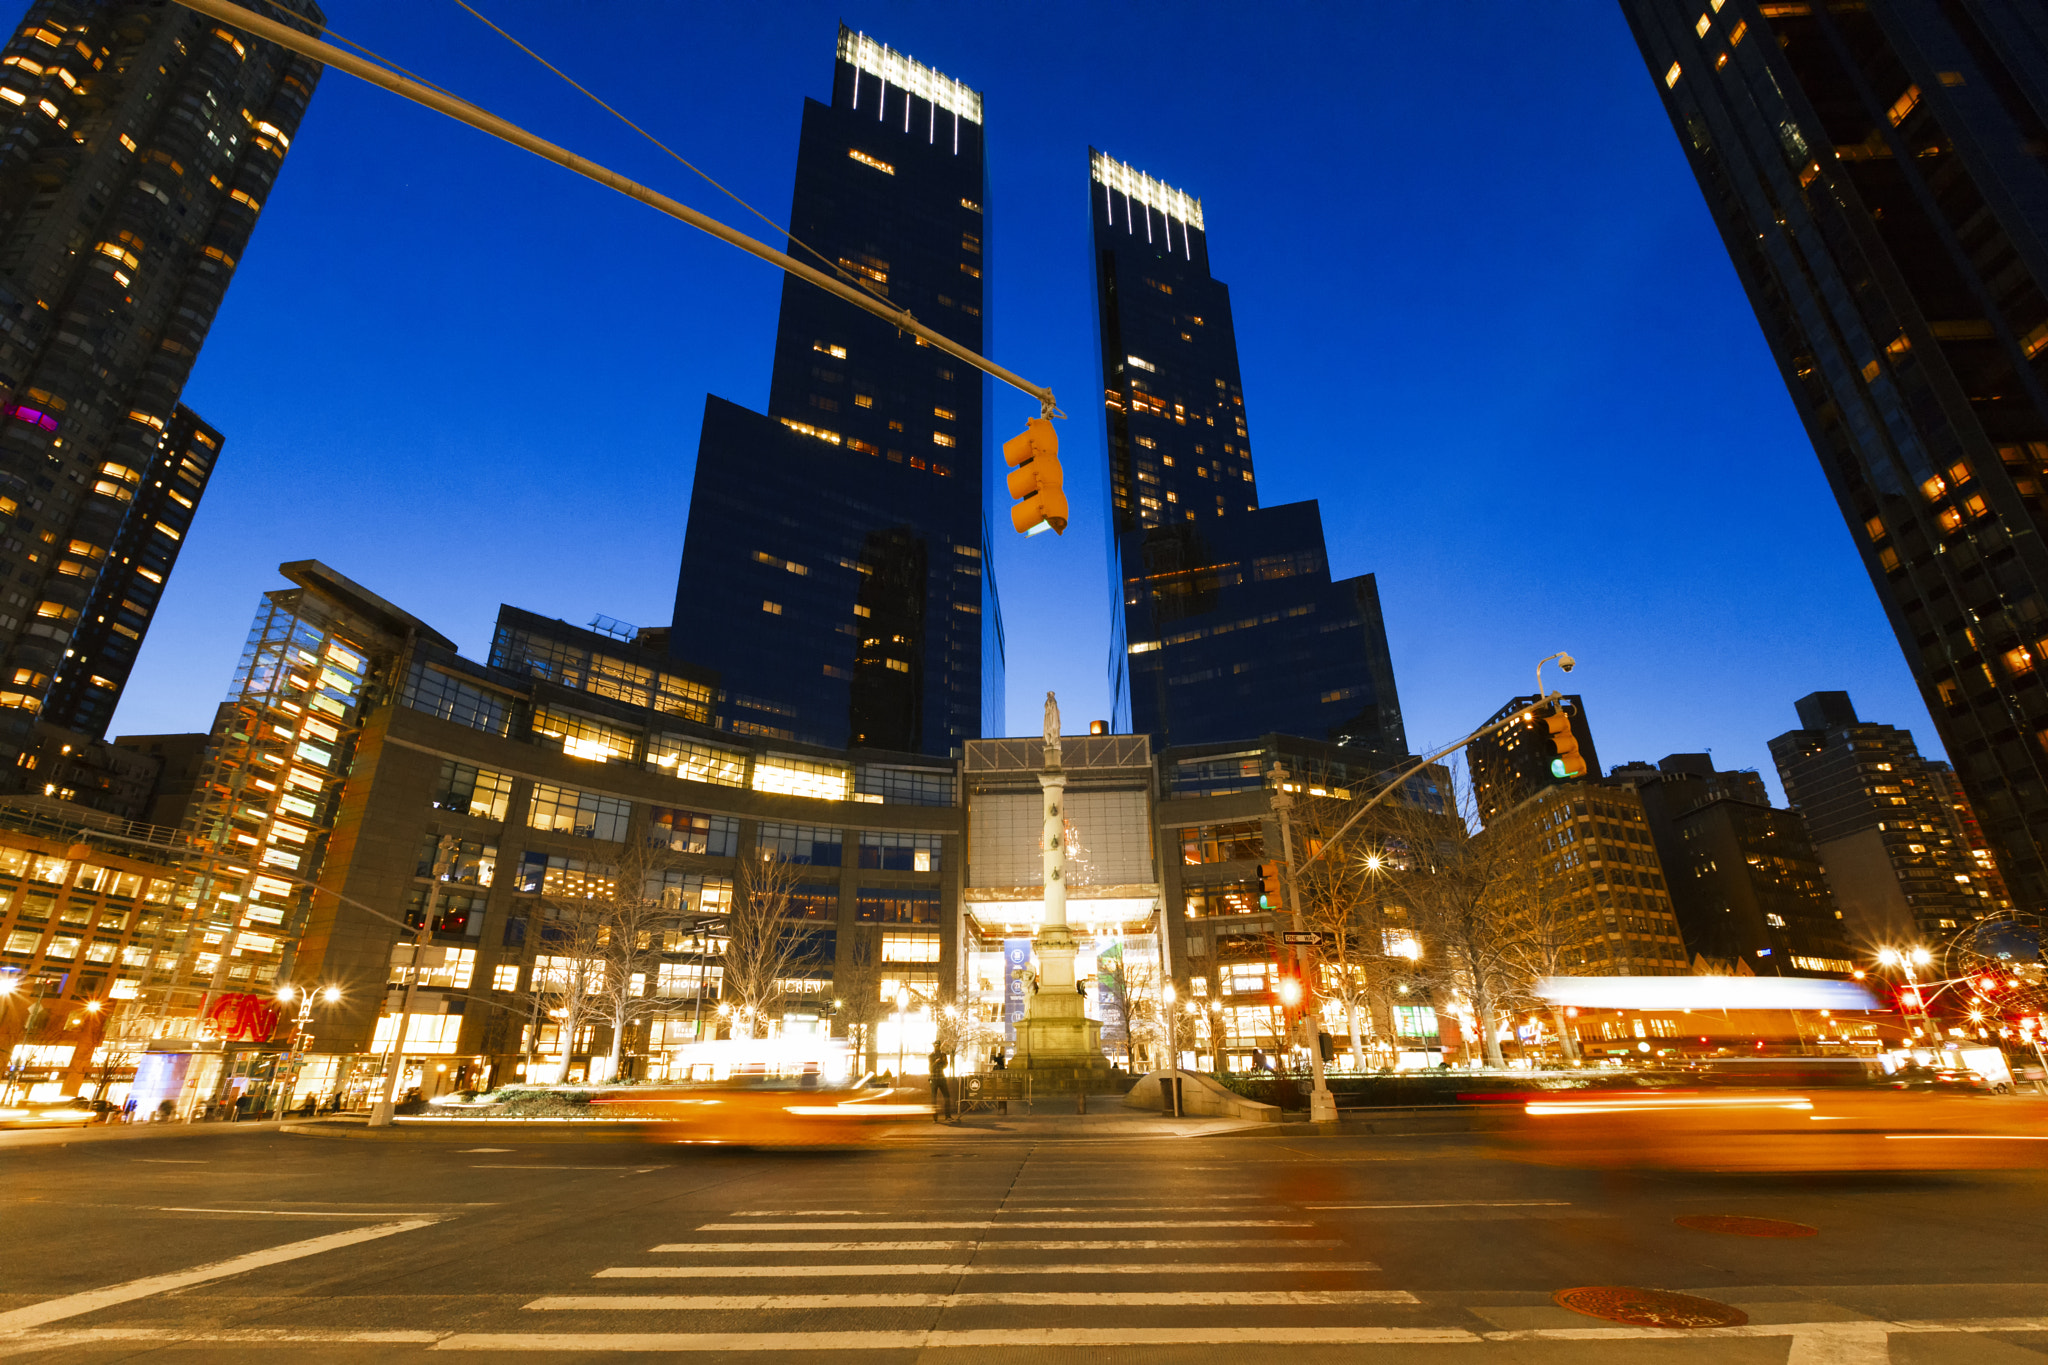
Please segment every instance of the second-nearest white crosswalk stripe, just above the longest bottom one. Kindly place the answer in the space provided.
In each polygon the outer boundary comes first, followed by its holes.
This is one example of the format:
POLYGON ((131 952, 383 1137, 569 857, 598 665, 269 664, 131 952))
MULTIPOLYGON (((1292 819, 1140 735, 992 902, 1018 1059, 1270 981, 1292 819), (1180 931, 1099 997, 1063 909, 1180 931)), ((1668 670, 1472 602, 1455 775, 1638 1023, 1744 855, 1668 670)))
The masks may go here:
POLYGON ((809 1308, 1343 1308, 1417 1304, 1407 1289, 1180 1289, 1169 1293, 584 1293, 526 1304, 539 1312, 776 1312, 809 1308))

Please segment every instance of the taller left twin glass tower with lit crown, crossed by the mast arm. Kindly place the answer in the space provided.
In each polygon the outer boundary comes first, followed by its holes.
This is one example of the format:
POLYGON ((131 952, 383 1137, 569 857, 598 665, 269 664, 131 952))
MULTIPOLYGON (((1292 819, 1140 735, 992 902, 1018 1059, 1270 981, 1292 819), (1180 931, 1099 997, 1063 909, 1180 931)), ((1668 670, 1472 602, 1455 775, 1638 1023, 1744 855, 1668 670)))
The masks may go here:
MULTIPOLYGON (((791 233, 981 350, 983 203, 981 96, 842 29, 791 233)), ((707 399, 676 585, 670 653, 721 675, 721 726, 903 753, 1001 733, 989 442, 979 370, 784 280, 768 411, 707 399)))

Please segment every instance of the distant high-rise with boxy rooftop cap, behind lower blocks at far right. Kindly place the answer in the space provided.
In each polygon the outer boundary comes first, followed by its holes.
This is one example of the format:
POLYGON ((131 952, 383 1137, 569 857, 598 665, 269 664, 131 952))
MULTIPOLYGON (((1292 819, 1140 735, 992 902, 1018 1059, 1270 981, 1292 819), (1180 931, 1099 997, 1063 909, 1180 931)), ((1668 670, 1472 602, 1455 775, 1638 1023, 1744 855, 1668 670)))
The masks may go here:
POLYGON ((1911 731, 1858 720, 1847 692, 1802 696, 1798 722, 1772 759, 1860 948, 1942 943, 2011 909, 1911 731))

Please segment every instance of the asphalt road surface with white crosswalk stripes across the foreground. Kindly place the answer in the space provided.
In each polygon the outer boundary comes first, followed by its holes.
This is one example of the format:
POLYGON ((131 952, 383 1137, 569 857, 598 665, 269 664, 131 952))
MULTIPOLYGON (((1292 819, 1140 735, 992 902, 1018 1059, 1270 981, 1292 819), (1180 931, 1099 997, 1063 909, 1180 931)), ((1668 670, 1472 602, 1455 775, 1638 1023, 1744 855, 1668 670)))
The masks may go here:
POLYGON ((2042 1365, 2044 1195, 1563 1171, 1477 1138, 0 1138, 0 1355, 2042 1365), (1817 1234, 1675 1222, 1700 1214, 1817 1234), (1747 1324, 1552 1302, 1599 1285, 1747 1324))

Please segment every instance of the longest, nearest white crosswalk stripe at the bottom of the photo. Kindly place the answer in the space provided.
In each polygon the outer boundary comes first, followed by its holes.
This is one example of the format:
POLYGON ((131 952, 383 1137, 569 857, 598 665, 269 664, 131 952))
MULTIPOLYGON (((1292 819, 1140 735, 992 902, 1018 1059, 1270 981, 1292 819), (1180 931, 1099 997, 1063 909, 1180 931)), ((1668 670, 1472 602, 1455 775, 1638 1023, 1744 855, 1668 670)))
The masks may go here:
POLYGON ((963 1351, 989 1347, 1407 1347, 1485 1340, 1427 1326, 1069 1326, 977 1332, 459 1332, 434 1351, 963 1351))

